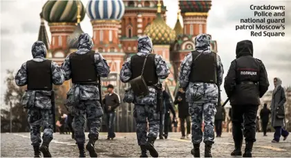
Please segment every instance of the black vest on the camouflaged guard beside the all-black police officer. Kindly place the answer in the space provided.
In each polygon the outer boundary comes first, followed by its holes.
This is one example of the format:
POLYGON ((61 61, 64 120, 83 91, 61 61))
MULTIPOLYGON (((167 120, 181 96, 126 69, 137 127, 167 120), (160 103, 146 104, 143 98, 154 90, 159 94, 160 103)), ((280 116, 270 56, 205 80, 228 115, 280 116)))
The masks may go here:
POLYGON ((192 52, 192 65, 189 76, 190 82, 216 83, 217 61, 216 54, 201 54, 192 52), (198 56, 198 58, 196 58, 198 56), (196 58, 196 60, 195 60, 196 58))

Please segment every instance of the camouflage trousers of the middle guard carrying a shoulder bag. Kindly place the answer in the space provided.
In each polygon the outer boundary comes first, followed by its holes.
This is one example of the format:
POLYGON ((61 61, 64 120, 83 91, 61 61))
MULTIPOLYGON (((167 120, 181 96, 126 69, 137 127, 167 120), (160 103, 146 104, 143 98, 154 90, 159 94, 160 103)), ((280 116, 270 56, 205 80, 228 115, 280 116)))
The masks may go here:
POLYGON ((158 137, 160 113, 156 113, 155 106, 135 104, 133 116, 136 122, 136 136, 139 146, 147 143, 147 137, 158 137), (147 135, 147 120, 149 121, 149 135, 147 135))

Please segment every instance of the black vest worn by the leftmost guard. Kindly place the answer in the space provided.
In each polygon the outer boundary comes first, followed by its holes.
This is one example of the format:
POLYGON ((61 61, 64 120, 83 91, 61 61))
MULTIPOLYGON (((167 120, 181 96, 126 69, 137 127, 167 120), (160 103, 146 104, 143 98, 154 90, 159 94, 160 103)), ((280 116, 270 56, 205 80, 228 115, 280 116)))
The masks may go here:
POLYGON ((53 89, 51 64, 51 60, 44 60, 42 62, 28 60, 26 62, 28 90, 50 91, 53 89))

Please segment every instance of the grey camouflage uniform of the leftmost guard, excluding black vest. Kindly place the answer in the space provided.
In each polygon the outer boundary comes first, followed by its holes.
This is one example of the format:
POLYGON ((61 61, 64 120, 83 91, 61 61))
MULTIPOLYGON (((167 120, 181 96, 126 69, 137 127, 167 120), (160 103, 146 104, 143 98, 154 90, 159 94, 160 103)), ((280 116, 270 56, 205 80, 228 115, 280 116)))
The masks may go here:
MULTIPOLYGON (((32 45, 32 57, 36 62, 46 60, 46 46, 41 41, 32 45)), ((64 70, 57 63, 51 63, 53 84, 60 85, 64 82, 64 70)), ((15 76, 15 82, 18 86, 28 84, 28 75, 26 74, 26 63, 15 76)), ((28 123, 30 124, 30 139, 32 146, 41 144, 41 125, 44 126, 42 138, 47 144, 53 139, 53 111, 50 101, 50 91, 26 91, 22 97, 21 104, 28 109, 28 123)), ((54 110, 54 109, 53 109, 54 110)))

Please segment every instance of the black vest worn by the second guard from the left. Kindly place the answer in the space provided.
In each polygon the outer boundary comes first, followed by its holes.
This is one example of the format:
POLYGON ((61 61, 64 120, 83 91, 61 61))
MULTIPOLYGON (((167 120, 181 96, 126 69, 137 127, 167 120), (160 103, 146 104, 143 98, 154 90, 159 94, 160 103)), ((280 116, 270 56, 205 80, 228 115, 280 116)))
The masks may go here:
POLYGON ((94 51, 86 54, 70 55, 70 65, 73 83, 91 83, 97 82, 97 72, 94 61, 94 51))

